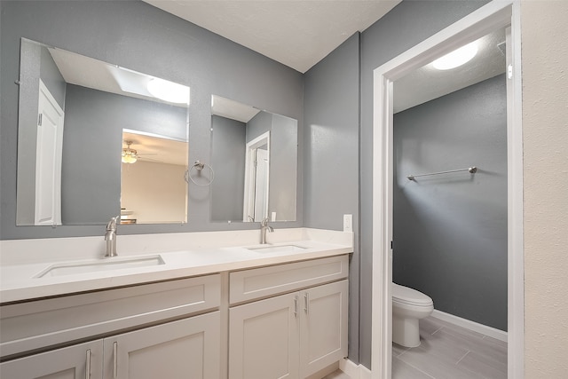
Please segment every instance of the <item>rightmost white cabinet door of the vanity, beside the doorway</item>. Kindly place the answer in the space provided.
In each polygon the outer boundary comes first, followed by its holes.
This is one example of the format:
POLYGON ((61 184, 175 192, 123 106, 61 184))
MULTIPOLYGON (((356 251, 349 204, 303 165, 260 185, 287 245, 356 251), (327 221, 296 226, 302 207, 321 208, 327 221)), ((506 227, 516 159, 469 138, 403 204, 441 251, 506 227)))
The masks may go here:
POLYGON ((300 377, 347 356, 348 280, 300 292, 300 377))

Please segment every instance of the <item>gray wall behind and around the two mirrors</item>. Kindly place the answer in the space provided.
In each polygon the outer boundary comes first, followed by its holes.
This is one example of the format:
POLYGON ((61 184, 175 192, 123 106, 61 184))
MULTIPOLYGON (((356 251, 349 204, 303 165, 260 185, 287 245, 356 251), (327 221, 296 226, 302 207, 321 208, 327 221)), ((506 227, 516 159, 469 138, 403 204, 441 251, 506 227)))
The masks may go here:
MULTIPOLYGON (((22 36, 191 87, 189 162, 210 162, 212 93, 295 118, 302 130, 303 75, 149 4, 138 0, 2 1, 0 7, 1 239, 103 235, 105 227, 15 225, 18 87, 13 82, 20 72, 22 36)), ((298 186, 297 221, 275 227, 302 225, 301 189, 298 186)), ((258 227, 210 222, 208 187, 189 186, 188 202, 185 225, 121 225, 119 233, 258 227)))

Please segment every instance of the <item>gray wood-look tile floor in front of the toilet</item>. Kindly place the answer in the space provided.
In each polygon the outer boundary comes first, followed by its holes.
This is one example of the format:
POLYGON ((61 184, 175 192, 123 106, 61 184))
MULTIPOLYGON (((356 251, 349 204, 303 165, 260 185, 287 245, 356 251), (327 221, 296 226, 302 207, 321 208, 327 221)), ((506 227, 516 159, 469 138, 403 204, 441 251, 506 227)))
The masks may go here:
POLYGON ((418 347, 392 344, 392 379, 507 378, 507 343, 433 317, 420 320, 420 336, 418 347))

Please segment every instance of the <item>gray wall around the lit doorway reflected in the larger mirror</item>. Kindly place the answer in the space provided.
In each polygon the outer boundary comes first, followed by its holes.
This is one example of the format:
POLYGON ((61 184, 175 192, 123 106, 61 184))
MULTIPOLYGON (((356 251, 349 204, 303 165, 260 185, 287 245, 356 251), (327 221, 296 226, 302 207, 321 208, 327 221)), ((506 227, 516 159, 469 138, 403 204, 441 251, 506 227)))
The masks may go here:
POLYGON ((187 109, 67 84, 61 221, 101 225, 121 197, 122 129, 185 139, 187 109))

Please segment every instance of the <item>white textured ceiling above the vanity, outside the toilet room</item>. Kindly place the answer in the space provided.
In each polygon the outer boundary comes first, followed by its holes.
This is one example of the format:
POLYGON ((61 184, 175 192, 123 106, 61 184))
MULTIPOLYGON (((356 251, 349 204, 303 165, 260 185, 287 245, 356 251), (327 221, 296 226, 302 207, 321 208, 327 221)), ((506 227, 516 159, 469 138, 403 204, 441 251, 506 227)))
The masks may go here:
POLYGON ((144 0, 304 73, 400 0, 144 0))

